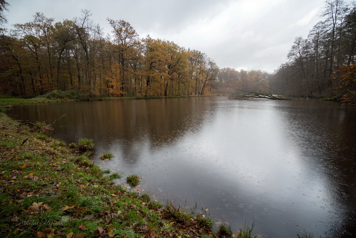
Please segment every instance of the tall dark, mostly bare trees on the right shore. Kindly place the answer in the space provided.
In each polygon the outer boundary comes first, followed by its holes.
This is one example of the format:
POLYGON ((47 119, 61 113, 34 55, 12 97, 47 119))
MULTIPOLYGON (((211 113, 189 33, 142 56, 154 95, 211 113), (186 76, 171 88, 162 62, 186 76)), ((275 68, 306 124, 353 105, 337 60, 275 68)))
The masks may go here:
POLYGON ((320 17, 323 21, 307 38, 295 38, 287 55, 289 61, 269 77, 270 87, 298 96, 355 97, 355 2, 326 1, 320 17), (350 73, 351 77, 346 77, 350 73))

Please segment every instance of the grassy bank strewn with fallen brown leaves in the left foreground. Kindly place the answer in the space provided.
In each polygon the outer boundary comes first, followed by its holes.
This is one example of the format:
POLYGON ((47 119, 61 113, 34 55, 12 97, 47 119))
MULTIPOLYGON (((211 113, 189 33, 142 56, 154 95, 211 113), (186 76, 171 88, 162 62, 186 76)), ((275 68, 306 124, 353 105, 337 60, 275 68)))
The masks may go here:
POLYGON ((1 237, 223 237, 202 213, 161 208, 37 129, 0 113, 1 237))

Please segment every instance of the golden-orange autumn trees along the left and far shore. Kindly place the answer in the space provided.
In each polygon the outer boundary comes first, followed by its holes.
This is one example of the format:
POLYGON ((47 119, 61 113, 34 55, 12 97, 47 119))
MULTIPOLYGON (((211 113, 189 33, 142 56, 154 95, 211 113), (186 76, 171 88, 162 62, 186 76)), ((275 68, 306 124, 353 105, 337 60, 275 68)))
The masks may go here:
POLYGON ((73 20, 54 22, 37 12, 32 21, 2 33, 1 94, 33 97, 74 89, 91 97, 150 97, 227 93, 240 84, 268 87, 267 73, 219 69, 198 50, 140 38, 124 20, 107 19, 112 32, 105 35, 90 15, 83 10, 73 20))

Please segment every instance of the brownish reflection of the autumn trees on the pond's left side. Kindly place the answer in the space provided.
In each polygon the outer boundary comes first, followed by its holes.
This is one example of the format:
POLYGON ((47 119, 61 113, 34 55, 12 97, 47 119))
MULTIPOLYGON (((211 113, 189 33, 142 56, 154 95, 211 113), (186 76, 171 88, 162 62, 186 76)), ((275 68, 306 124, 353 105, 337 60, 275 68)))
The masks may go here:
MULTIPOLYGON (((35 104, 14 108, 13 115, 28 121, 56 121, 56 138, 71 143, 87 137, 102 151, 120 150, 130 165, 145 148, 168 146, 203 124, 212 98, 108 100, 35 104)), ((213 98, 214 99, 214 98, 213 98)))

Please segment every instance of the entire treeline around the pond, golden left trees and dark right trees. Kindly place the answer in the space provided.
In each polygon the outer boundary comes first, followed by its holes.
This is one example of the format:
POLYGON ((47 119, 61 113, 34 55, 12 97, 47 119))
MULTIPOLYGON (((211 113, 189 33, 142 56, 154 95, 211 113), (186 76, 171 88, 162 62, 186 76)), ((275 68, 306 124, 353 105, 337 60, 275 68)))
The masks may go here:
POLYGON ((323 21, 306 39, 295 38, 289 61, 273 74, 219 68, 198 50, 140 38, 124 20, 107 19, 112 31, 105 33, 90 16, 82 10, 79 17, 55 22, 37 12, 30 22, 1 29, 0 94, 28 98, 73 89, 90 97, 150 97, 272 88, 287 95, 356 101, 354 2, 326 1, 323 21))

